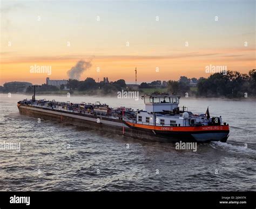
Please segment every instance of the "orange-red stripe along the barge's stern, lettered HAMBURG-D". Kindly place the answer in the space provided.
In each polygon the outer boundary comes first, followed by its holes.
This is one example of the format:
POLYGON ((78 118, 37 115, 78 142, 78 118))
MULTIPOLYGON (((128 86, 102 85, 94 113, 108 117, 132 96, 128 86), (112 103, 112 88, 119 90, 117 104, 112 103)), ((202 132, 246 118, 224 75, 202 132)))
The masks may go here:
POLYGON ((230 130, 229 126, 188 126, 188 127, 171 127, 171 126, 149 126, 127 122, 129 126, 143 129, 162 130, 162 131, 218 131, 230 130))

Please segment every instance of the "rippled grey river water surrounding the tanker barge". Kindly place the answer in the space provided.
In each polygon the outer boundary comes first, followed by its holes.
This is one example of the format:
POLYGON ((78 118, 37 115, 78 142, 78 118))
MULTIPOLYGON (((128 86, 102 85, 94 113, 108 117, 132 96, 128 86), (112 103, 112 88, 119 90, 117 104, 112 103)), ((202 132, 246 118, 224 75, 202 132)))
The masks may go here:
MULTIPOLYGON (((99 134, 19 115, 17 101, 28 95, 0 94, 1 191, 256 191, 256 109, 247 99, 181 98, 193 113, 223 117, 227 143, 198 144, 197 151, 172 143, 149 143, 99 134), (247 148, 245 148, 247 145, 247 148)), ((37 99, 100 101, 111 107, 142 109, 142 100, 97 96, 39 95, 37 99)))

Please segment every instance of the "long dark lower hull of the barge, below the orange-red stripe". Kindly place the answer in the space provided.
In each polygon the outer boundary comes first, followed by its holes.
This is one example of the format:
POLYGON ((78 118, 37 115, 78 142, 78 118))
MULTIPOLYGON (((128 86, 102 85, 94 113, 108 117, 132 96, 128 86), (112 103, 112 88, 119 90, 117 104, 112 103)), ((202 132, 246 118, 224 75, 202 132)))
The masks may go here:
POLYGON ((159 131, 131 127, 123 120, 107 119, 100 116, 84 115, 80 113, 64 112, 62 110, 19 105, 19 113, 45 120, 53 120, 60 123, 72 124, 84 127, 88 130, 97 130, 102 133, 111 133, 153 142, 209 142, 223 141, 228 137, 227 130, 208 131, 159 131), (97 123, 97 119, 100 119, 97 123))

